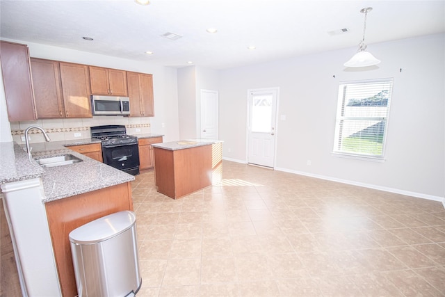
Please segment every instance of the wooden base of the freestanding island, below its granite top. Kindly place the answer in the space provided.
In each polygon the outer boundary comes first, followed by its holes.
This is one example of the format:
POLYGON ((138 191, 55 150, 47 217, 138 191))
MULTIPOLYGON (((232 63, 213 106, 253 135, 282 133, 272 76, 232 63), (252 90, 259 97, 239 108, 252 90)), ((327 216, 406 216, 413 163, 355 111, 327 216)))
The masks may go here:
POLYGON ((212 184, 212 146, 181 150, 154 147, 154 175, 159 193, 178 199, 212 184))

